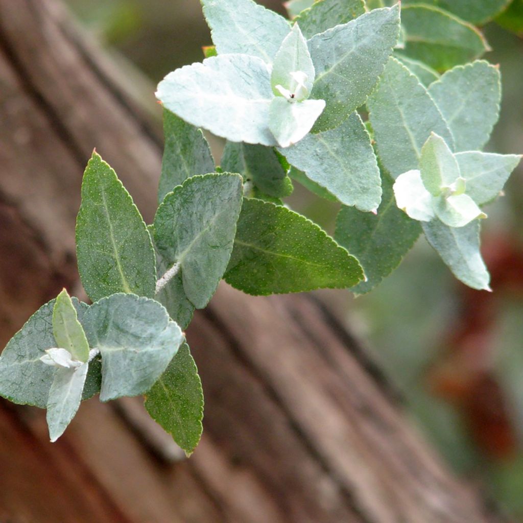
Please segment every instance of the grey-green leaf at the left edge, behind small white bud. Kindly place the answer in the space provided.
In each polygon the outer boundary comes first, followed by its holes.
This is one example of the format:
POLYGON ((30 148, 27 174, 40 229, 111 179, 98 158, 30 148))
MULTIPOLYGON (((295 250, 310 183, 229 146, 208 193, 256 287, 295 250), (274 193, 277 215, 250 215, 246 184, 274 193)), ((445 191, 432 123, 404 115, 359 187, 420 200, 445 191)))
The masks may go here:
MULTIPOLYGON (((73 304, 81 317, 85 303, 76 298, 73 304)), ((44 365, 40 358, 55 347, 53 308, 55 300, 42 305, 9 340, 0 356, 0 395, 22 405, 46 408, 49 389, 56 369, 44 365)))

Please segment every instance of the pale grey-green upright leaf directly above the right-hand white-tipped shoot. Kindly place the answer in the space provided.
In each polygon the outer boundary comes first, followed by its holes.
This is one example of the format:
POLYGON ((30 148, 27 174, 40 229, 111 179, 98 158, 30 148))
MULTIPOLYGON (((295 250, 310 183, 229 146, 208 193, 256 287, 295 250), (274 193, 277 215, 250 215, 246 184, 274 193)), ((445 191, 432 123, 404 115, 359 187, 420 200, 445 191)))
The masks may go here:
POLYGON ((422 146, 431 132, 453 148, 452 135, 434 100, 394 58, 386 65, 367 106, 378 156, 393 178, 418 168, 422 146))

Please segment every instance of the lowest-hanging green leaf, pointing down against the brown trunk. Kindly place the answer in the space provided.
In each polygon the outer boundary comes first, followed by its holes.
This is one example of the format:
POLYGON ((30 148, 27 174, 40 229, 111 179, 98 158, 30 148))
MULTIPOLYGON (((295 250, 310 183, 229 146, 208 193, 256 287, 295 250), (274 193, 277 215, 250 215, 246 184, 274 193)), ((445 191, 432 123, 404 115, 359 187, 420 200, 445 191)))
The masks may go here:
POLYGON ((146 393, 145 408, 188 455, 194 451, 203 429, 203 390, 186 343, 146 393))

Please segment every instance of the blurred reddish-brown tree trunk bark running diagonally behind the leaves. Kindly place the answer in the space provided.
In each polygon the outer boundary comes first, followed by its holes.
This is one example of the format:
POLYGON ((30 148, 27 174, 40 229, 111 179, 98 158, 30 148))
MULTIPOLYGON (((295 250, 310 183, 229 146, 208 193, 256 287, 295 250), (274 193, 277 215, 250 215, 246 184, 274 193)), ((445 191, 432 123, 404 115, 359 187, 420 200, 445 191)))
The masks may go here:
MULTIPOLYGON (((133 78, 58 2, 0 0, 2 346, 61 287, 78 293, 74 224, 93 147, 154 215, 162 139, 153 94, 142 103, 133 78)), ((167 463, 118 403, 83 403, 51 445, 42 411, 2 402, 0 520, 501 521, 314 295, 222 285, 188 342, 206 394, 190 459, 167 463)))

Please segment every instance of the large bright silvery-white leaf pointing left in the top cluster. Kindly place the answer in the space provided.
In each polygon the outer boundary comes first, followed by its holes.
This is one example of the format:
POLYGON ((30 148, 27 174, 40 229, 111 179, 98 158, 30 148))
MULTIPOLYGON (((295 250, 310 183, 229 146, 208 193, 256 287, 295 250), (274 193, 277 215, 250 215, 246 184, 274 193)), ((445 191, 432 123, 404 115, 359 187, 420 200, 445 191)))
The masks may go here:
POLYGON ((158 84, 156 97, 185 121, 232 142, 277 145, 269 130, 270 73, 256 56, 224 54, 181 67, 158 84))

